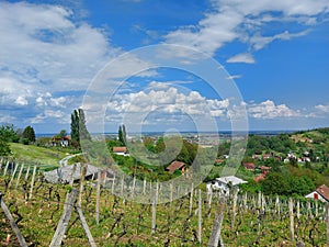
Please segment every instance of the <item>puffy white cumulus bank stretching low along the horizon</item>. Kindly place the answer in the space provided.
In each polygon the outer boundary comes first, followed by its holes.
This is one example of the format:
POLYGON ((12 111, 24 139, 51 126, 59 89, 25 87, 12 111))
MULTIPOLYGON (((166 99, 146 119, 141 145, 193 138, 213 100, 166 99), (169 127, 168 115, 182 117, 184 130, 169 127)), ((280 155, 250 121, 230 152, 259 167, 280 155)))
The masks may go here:
MULTIPOLYGON (((98 112, 99 104, 93 102, 93 105, 86 105, 87 113, 91 115, 88 119, 89 124, 92 122, 103 121, 122 124, 129 120, 129 123, 149 125, 161 123, 162 127, 175 122, 177 125, 184 125, 186 117, 200 120, 204 122, 211 119, 219 119, 222 122, 229 123, 234 119, 243 117, 243 109, 250 120, 302 120, 307 117, 321 117, 320 114, 314 113, 311 109, 292 109, 286 104, 276 104, 272 100, 262 102, 240 102, 240 105, 232 105, 229 99, 208 99, 201 96, 197 91, 180 91, 171 83, 166 81, 151 81, 148 90, 131 93, 117 93, 106 105, 106 112, 98 112), (93 113, 97 112, 95 115, 93 113), (152 121, 148 117, 152 115, 152 121)), ((318 110, 329 112, 328 105, 317 105, 318 110)))

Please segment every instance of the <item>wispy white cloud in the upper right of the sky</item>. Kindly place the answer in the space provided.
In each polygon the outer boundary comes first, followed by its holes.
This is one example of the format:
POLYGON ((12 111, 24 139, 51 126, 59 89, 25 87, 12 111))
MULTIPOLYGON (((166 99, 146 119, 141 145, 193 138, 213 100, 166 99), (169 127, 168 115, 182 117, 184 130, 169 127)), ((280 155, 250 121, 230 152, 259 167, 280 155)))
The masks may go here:
MULTIPOLYGON (((213 55, 227 43, 240 41, 249 52, 261 49, 275 40, 291 40, 308 33, 309 26, 321 21, 329 13, 326 0, 212 0, 212 10, 198 23, 181 26, 164 36, 166 42, 193 46, 213 55), (269 23, 296 23, 304 31, 291 33, 283 30, 271 36, 263 35, 269 23)), ((284 27, 283 27, 284 29, 284 27)), ((246 54, 245 54, 246 56, 246 54)), ((242 56, 228 59, 229 63, 254 63, 242 56)))

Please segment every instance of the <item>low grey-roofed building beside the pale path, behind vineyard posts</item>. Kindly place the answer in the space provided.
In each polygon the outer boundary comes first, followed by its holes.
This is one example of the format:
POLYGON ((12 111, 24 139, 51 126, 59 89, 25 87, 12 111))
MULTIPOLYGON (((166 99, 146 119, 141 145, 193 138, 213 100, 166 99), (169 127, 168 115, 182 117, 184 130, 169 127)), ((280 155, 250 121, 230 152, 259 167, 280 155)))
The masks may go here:
MULTIPOLYGON (((91 180, 95 178, 98 171, 100 170, 101 169, 95 166, 87 165, 84 179, 91 180)), ((77 162, 75 165, 59 167, 55 170, 46 171, 44 172, 44 178, 50 183, 69 183, 71 178, 73 181, 79 181, 81 178, 81 164, 77 162)))

